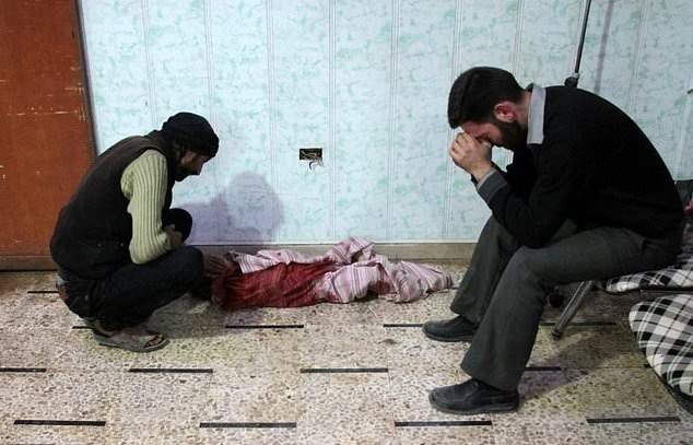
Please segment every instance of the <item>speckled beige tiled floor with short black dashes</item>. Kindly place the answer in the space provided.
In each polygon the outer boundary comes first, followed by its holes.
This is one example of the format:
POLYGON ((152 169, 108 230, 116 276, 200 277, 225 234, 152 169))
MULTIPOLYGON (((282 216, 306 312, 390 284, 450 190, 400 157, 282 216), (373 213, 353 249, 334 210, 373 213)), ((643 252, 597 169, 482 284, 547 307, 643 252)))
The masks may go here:
POLYGON ((457 417, 427 393, 467 378, 467 347, 420 329, 454 290, 233 314, 184 297, 154 314, 172 342, 150 354, 96 346, 51 291, 51 273, 0 273, 3 444, 693 444, 627 329, 638 295, 594 294, 560 341, 548 307, 519 411, 457 417))

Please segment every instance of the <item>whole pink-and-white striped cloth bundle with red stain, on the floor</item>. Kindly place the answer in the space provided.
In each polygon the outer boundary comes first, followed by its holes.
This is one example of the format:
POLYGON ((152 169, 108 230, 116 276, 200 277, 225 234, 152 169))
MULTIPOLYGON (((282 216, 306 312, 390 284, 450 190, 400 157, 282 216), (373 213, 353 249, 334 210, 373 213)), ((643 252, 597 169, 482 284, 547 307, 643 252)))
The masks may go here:
POLYGON ((349 303, 376 293, 403 303, 449 288, 449 273, 431 265, 390 262, 375 254, 373 243, 350 237, 325 255, 308 257, 294 250, 230 251, 242 274, 222 273, 213 300, 227 309, 252 306, 291 307, 319 302, 349 303))

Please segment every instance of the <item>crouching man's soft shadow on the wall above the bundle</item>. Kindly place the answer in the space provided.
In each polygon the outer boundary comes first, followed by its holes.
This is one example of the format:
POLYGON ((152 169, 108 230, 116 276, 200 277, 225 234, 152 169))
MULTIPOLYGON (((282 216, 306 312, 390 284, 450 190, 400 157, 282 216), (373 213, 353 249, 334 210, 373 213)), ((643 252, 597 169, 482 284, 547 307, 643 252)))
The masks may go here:
POLYGON ((236 175, 211 202, 179 207, 192 214, 189 244, 265 244, 278 238, 283 222, 279 196, 252 172, 236 175))

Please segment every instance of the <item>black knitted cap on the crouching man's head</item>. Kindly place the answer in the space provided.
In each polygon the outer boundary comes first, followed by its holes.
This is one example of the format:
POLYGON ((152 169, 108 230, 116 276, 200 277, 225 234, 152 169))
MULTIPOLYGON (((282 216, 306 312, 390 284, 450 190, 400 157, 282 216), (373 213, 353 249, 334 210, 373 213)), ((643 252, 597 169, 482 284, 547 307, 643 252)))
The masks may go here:
POLYGON ((192 113, 181 112, 171 116, 162 126, 162 132, 167 139, 210 157, 219 151, 219 137, 210 122, 192 113))

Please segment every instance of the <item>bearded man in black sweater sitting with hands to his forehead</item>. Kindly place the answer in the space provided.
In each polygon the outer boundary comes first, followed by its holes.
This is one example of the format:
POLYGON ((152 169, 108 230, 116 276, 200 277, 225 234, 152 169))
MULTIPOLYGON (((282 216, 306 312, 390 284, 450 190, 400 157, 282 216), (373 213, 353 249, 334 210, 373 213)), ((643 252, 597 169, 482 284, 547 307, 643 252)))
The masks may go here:
POLYGON ((424 333, 471 341, 467 382, 434 389, 433 406, 472 414, 515 410, 548 293, 674 260, 683 212, 659 154, 622 110, 586 91, 530 84, 479 67, 453 84, 461 127, 453 162, 492 211, 450 309, 424 333), (503 172, 493 145, 514 153, 503 172))

